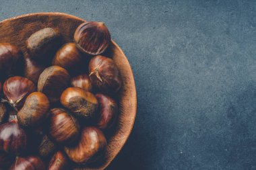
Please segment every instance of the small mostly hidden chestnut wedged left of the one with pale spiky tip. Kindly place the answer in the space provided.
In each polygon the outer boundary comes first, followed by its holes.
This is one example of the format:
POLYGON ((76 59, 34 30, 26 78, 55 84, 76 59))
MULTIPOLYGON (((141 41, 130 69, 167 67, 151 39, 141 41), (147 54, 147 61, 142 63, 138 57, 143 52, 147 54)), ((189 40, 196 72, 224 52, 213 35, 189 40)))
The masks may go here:
POLYGON ((80 87, 86 91, 92 91, 92 83, 88 75, 78 75, 71 79, 71 86, 80 87))

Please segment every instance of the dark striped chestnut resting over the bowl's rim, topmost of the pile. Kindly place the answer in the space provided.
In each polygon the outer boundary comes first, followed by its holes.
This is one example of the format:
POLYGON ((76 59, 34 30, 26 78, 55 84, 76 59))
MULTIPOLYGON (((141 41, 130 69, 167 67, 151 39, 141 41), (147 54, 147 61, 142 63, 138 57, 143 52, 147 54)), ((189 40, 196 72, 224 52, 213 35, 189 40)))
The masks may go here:
POLYGON ((74 40, 82 52, 98 55, 108 48, 111 36, 103 22, 84 22, 75 30, 74 40))

